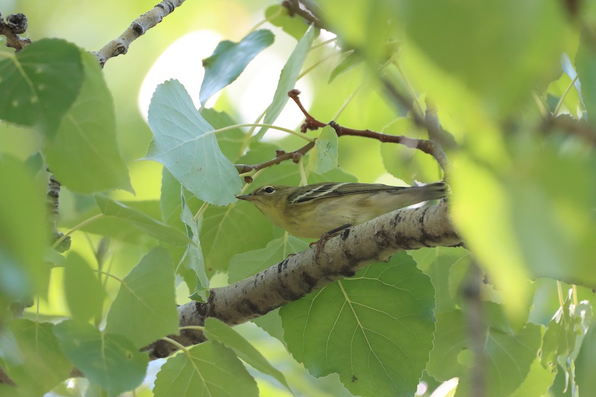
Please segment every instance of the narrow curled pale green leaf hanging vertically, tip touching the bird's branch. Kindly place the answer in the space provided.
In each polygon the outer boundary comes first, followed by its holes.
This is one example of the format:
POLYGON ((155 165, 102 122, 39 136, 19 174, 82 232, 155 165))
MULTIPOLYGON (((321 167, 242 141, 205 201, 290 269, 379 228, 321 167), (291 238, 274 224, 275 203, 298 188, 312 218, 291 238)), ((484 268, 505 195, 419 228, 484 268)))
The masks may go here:
POLYGON ((198 240, 197 221, 194 220, 193 213, 190 211, 190 208, 188 208, 184 197, 182 198, 181 219, 182 222, 187 225, 188 235, 193 240, 193 242, 188 245, 184 265, 194 271, 197 278, 194 290, 201 297, 201 302, 206 302, 206 291, 209 290, 209 278, 207 278, 207 273, 205 271, 205 260, 203 258, 201 242, 198 240))

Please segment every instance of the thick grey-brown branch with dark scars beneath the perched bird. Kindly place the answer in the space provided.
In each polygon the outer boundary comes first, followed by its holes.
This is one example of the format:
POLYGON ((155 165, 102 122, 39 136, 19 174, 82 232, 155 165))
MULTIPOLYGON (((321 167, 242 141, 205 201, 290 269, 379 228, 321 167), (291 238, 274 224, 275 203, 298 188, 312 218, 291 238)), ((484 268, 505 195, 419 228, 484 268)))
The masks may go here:
MULTIPOLYGON (((396 252, 461 242, 445 203, 389 212, 327 240, 316 261, 316 247, 312 247, 253 277, 213 288, 206 303, 188 302, 178 308, 180 326, 202 326, 206 317, 241 324, 353 276, 365 265, 387 261, 396 252)), ((186 346, 204 341, 203 333, 188 329, 172 337, 186 346)), ((163 340, 149 347, 152 358, 167 357, 176 350, 163 340)))

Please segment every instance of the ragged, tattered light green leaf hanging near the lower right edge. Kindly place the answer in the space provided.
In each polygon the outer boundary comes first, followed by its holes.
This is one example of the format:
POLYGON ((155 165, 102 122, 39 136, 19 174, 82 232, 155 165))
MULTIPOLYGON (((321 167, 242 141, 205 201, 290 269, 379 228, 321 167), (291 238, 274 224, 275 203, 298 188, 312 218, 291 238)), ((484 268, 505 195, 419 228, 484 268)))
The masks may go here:
POLYGON ((569 290, 563 307, 557 310, 548 323, 542 342, 542 366, 554 370, 557 361, 577 358, 583 337, 592 323, 592 315, 592 305, 588 301, 582 301, 576 307, 572 300, 572 290, 569 290))

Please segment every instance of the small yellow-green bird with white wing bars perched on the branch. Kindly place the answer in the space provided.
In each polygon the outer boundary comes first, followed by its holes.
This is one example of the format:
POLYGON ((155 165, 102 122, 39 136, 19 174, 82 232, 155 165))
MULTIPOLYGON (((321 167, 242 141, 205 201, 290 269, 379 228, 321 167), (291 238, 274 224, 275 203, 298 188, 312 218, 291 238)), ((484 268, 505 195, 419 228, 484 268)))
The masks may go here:
POLYGON ((387 186, 377 183, 315 183, 262 186, 237 198, 252 202, 272 223, 297 237, 318 239, 418 202, 447 195, 446 183, 387 186))

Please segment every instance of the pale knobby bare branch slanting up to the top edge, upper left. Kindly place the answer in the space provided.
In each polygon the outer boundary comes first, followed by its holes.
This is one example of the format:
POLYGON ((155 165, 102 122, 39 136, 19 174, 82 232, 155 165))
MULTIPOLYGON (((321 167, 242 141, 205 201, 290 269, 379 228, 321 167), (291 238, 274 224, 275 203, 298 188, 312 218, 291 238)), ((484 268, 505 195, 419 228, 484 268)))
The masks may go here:
POLYGON ((135 39, 147 33, 147 30, 160 23, 164 17, 172 14, 175 8, 182 5, 182 3, 184 3, 184 0, 163 0, 151 10, 132 21, 131 26, 120 37, 111 40, 104 48, 95 52, 95 56, 100 62, 101 67, 110 58, 117 57, 120 54, 126 54, 129 46, 131 46, 131 43, 135 39))

